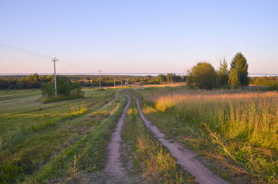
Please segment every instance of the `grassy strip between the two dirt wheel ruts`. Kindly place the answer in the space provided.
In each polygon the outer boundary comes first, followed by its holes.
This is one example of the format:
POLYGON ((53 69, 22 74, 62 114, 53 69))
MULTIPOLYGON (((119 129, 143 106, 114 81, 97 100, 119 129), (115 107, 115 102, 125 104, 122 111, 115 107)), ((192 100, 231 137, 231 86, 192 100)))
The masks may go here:
POLYGON ((133 100, 122 129, 122 140, 131 147, 131 174, 140 173, 149 183, 195 183, 194 177, 183 172, 146 128, 133 100))

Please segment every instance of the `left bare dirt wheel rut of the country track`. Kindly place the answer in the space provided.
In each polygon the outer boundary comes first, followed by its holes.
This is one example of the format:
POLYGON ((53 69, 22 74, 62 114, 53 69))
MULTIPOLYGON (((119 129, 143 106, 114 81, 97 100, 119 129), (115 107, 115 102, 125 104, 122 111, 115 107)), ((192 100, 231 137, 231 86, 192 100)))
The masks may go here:
MULTIPOLYGON (((124 94, 124 93, 123 93, 124 94)), ((121 131, 122 126, 124 125, 124 117, 126 116, 126 111, 129 108, 129 103, 131 99, 129 96, 124 94, 129 101, 126 103, 126 107, 122 112, 122 117, 120 118, 117 126, 115 128, 115 132, 112 134, 111 142, 108 144, 108 162, 104 169, 105 172, 108 172, 114 176, 121 177, 125 174, 125 169, 122 167, 122 163, 120 162, 120 147, 121 147, 121 131)))

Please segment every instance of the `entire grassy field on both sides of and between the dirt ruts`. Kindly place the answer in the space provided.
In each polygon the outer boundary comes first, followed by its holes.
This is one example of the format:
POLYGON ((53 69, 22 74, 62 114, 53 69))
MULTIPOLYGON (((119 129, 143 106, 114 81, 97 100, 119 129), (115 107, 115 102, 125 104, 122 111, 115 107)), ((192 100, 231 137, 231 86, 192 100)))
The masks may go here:
POLYGON ((196 183, 129 92, 166 140, 197 153, 194 160, 229 183, 278 183, 278 92, 184 85, 83 91, 83 99, 51 103, 42 103, 40 90, 0 91, 1 183, 196 183), (119 178, 104 168, 127 97, 119 178))

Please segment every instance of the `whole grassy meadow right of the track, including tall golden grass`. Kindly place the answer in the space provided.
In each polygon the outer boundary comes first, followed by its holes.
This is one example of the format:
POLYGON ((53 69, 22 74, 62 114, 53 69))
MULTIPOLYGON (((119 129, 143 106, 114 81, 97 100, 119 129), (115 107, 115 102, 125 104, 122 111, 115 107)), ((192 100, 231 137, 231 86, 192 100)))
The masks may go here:
POLYGON ((148 119, 232 183, 278 183, 278 92, 137 88, 148 119))

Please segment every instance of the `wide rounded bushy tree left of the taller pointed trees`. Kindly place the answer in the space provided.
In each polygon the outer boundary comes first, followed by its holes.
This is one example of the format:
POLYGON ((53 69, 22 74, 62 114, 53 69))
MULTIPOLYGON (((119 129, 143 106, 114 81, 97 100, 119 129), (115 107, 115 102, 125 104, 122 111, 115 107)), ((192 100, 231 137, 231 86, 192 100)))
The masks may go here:
POLYGON ((217 74, 213 66, 208 62, 198 62, 188 71, 186 78, 188 87, 199 87, 211 90, 216 85, 217 74))

